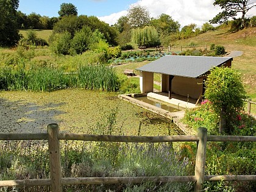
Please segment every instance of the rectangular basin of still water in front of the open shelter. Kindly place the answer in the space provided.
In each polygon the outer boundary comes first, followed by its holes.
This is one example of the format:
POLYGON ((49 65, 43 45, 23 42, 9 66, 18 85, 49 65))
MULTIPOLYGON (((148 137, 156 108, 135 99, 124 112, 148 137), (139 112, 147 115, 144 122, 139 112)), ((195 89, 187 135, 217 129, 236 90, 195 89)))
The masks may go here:
POLYGON ((179 111, 179 109, 174 108, 174 105, 171 104, 167 104, 165 102, 160 102, 157 99, 152 99, 152 98, 148 98, 148 97, 139 97, 136 98, 139 101, 143 101, 146 102, 147 104, 151 104, 154 105, 155 107, 159 107, 159 108, 163 108, 164 110, 168 111, 168 112, 177 112, 179 111))

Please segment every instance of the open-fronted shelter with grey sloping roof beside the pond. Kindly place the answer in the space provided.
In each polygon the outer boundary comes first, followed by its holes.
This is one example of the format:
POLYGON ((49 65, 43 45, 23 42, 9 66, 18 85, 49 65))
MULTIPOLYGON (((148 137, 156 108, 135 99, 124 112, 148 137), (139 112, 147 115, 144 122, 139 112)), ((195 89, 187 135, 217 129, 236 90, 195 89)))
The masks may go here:
POLYGON ((201 57, 166 55, 154 62, 141 66, 140 90, 141 93, 154 92, 154 73, 161 74, 161 92, 199 99, 204 95, 204 82, 210 69, 230 67, 232 57, 201 57))

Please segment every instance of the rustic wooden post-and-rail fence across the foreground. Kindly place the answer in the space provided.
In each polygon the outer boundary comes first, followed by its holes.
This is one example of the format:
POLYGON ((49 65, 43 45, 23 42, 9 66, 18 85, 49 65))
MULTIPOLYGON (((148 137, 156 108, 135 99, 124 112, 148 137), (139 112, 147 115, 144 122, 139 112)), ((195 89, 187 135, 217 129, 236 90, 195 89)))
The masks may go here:
POLYGON ((207 141, 256 141, 253 136, 215 136, 207 135, 207 129, 200 127, 197 135, 176 136, 118 136, 118 135, 85 135, 75 133, 59 133, 58 124, 49 124, 48 133, 0 133, 0 140, 48 140, 51 179, 1 180, 0 187, 30 187, 51 185, 53 192, 62 192, 62 185, 141 183, 141 182, 195 182, 194 191, 202 190, 204 181, 252 181, 256 175, 239 176, 205 176, 205 159, 207 141), (196 141, 197 154, 194 176, 163 177, 64 177, 62 178, 59 140, 110 141, 131 143, 163 143, 196 141))

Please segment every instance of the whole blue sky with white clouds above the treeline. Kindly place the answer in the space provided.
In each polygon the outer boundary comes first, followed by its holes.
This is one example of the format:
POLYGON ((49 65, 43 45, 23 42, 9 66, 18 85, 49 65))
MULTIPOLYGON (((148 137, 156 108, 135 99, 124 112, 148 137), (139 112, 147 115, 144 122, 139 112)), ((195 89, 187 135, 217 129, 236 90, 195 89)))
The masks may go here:
MULTIPOLYGON (((256 0, 252 0, 254 2, 256 0)), ((149 10, 151 17, 168 14, 180 26, 194 23, 197 27, 211 20, 221 12, 214 6, 214 0, 20 0, 18 10, 29 15, 32 12, 41 16, 59 16, 60 5, 72 3, 77 7, 78 15, 94 15, 108 24, 115 24, 131 5, 142 5, 149 10)), ((256 15, 256 7, 247 13, 247 17, 256 15)))

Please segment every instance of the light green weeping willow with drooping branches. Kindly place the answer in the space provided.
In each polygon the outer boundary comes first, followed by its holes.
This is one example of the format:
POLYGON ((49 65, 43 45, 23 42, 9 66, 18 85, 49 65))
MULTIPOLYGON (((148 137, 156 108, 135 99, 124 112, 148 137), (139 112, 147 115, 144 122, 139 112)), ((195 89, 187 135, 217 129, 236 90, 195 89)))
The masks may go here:
POLYGON ((146 26, 143 29, 132 29, 131 40, 138 46, 151 46, 159 43, 159 35, 155 27, 146 26))

